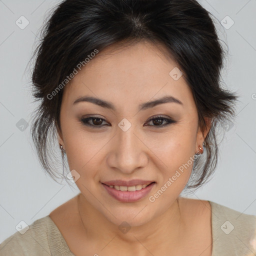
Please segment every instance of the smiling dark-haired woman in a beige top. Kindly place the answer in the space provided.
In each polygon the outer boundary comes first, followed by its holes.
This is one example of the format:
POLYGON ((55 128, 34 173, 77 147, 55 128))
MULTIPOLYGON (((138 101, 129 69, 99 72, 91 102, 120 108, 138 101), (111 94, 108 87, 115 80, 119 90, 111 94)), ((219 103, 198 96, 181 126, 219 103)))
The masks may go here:
POLYGON ((256 253, 256 216, 180 196, 212 175, 237 98, 220 87, 209 15, 195 0, 59 4, 36 51, 32 136, 53 178, 48 137, 58 141, 80 193, 2 255, 256 253))

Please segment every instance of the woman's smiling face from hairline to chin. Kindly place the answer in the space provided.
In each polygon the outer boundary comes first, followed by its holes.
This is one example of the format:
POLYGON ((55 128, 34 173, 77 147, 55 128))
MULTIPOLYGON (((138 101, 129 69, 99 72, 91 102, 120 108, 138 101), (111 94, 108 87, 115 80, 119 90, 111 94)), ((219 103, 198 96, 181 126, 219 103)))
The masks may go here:
POLYGON ((176 68, 150 43, 111 45, 64 88, 59 143, 82 195, 115 224, 136 226, 159 216, 190 176, 203 136, 192 93, 176 68), (150 103, 155 100, 160 103, 150 103))

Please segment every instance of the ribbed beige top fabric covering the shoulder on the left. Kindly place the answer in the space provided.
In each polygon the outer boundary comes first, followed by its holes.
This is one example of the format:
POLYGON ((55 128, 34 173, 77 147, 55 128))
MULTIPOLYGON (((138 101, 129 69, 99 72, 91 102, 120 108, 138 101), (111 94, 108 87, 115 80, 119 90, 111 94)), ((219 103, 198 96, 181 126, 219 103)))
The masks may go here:
MULTIPOLYGON (((23 229, 24 231, 25 229, 23 229)), ((53 251, 63 252, 55 255, 69 255, 66 244, 54 222, 47 215, 35 220, 23 232, 15 232, 0 244, 0 255, 52 255, 53 251), (62 247, 63 246, 63 247, 62 247)))

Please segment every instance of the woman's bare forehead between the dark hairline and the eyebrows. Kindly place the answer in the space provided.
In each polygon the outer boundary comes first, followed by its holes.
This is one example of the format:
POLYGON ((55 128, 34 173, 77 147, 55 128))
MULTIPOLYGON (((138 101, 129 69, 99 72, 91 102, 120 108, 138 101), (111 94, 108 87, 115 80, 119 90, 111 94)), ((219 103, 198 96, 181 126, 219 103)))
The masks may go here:
POLYGON ((161 44, 113 44, 86 63, 65 87, 63 97, 69 103, 87 94, 119 102, 144 102, 166 94, 189 99, 191 92, 182 75, 177 80, 171 75, 177 68, 161 44))

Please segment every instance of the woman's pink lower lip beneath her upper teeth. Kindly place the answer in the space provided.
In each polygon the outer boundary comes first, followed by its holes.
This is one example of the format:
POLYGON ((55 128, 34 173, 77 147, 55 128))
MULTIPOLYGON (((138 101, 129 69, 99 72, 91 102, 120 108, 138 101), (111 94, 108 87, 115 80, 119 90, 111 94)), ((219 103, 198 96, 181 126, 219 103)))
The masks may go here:
POLYGON ((116 190, 110 186, 107 186, 103 183, 101 183, 106 191, 114 197, 116 200, 121 201, 121 202, 135 202, 143 197, 145 197, 152 187, 154 186, 155 182, 151 183, 150 185, 136 191, 121 191, 121 190, 116 190))

